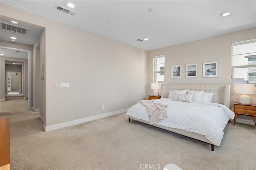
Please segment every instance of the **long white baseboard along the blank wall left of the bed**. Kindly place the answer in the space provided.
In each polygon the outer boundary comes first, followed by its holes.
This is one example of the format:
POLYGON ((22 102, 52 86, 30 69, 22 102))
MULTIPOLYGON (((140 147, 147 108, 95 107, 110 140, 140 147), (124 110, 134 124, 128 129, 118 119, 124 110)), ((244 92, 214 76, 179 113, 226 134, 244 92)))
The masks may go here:
POLYGON ((100 114, 100 115, 95 115, 95 116, 91 116, 91 117, 77 119, 77 120, 74 120, 74 121, 59 123, 59 124, 56 124, 56 125, 50 125, 50 126, 44 126, 43 125, 43 130, 45 132, 49 132, 51 130, 56 130, 56 129, 59 129, 59 128, 69 127, 69 126, 72 126, 72 125, 77 125, 77 124, 80 124, 80 123, 85 123, 85 122, 93 121, 93 120, 96 120, 96 119, 101 119, 101 118, 104 118, 104 117, 109 117, 109 116, 117 115, 117 114, 120 114, 120 113, 124 113, 124 112, 127 112, 128 109, 129 108, 118 110, 118 111, 113 111, 113 112, 108 112, 108 113, 103 113, 103 114, 100 114))

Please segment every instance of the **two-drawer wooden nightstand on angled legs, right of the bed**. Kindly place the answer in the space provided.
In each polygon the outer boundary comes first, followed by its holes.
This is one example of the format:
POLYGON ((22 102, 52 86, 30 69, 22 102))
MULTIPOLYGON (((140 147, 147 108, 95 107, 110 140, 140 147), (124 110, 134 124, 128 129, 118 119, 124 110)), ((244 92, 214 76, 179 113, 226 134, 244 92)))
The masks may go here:
POLYGON ((234 113, 235 113, 234 125, 236 125, 237 115, 253 116, 254 123, 256 125, 256 104, 252 103, 250 105, 243 105, 238 102, 234 102, 234 113))

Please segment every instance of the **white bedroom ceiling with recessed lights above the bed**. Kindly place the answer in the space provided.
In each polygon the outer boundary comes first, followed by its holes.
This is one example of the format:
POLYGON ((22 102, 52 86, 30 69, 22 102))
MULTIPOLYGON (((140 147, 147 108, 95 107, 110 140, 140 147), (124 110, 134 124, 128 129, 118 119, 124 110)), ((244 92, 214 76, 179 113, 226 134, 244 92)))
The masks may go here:
MULTIPOLYGON (((256 26, 256 1, 12 0, 1 2, 141 49, 153 50, 256 26), (74 12, 70 16, 56 5, 74 12), (150 13, 148 10, 155 8, 150 13), (231 11, 226 17, 222 12, 231 11), (108 22, 111 20, 112 22, 108 22), (147 42, 137 39, 149 38, 147 42)), ((1 32, 2 33, 2 32, 1 32)), ((2 37, 1 37, 2 39, 2 37)))

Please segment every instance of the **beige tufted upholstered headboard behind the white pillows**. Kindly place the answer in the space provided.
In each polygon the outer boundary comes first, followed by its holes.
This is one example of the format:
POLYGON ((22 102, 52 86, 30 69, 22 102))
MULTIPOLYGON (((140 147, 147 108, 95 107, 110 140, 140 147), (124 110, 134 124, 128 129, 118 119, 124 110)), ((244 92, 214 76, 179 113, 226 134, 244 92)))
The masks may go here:
POLYGON ((230 86, 229 85, 188 85, 188 84, 162 84, 162 98, 168 98, 171 90, 196 90, 214 93, 212 102, 220 103, 230 108, 230 86))

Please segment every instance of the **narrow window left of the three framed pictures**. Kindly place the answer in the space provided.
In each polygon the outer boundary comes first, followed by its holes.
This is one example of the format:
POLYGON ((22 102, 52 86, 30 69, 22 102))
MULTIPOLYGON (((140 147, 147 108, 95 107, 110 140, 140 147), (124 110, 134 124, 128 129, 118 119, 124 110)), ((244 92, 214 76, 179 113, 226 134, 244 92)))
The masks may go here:
POLYGON ((164 55, 154 57, 154 83, 164 84, 164 55))

